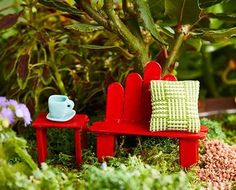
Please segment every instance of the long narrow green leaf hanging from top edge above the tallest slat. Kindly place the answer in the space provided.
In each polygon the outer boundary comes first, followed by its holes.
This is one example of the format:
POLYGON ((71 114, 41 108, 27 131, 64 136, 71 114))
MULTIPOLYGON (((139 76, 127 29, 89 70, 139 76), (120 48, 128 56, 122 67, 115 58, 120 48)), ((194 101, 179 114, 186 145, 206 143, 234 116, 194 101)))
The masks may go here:
POLYGON ((160 36, 157 27, 155 25, 155 22, 152 18, 151 15, 151 11, 148 5, 147 1, 140 1, 140 0, 135 0, 137 6, 138 6, 138 10, 139 10, 139 14, 140 14, 140 18, 143 20, 144 26, 145 28, 152 34, 152 36, 159 41, 162 44, 167 44, 162 37, 160 36))

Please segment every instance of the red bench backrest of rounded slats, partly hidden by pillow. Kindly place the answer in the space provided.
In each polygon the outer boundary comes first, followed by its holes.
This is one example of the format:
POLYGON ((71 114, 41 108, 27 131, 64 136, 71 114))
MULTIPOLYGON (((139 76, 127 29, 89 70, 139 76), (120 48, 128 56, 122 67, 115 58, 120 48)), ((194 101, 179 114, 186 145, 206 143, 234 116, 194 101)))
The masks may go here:
POLYGON ((130 73, 125 82, 125 88, 114 82, 107 91, 106 120, 149 122, 151 116, 151 80, 176 80, 173 75, 161 78, 162 68, 150 61, 144 68, 143 79, 138 73, 130 73))

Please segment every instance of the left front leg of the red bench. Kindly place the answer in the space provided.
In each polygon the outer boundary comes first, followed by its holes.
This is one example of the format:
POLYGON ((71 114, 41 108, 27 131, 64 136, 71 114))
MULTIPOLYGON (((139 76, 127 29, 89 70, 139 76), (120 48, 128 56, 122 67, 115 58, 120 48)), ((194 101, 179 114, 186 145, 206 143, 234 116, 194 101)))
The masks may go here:
POLYGON ((102 161, 107 156, 114 156, 115 135, 97 134, 97 158, 102 161))

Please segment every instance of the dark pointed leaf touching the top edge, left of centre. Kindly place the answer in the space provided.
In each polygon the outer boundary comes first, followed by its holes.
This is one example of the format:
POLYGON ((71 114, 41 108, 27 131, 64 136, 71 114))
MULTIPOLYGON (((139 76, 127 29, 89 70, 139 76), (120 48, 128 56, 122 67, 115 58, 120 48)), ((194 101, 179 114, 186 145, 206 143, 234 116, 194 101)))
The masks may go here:
POLYGON ((50 7, 54 8, 56 10, 62 11, 62 12, 67 12, 72 15, 77 15, 81 16, 83 14, 82 11, 79 11, 78 9, 71 7, 67 2, 65 1, 59 1, 59 0, 39 0, 39 3, 50 7))

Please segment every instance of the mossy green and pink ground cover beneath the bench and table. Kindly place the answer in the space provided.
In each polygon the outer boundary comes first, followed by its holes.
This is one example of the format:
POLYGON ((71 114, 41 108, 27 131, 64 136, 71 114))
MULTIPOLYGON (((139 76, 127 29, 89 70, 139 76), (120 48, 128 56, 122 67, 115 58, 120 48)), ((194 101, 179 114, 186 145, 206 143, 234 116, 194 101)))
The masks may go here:
MULTIPOLYGON (((0 147, 1 155, 5 155, 5 158, 0 159, 2 168, 0 188, 234 189, 235 116, 225 116, 225 120, 221 122, 213 119, 202 119, 201 122, 209 126, 208 138, 201 143, 199 163, 188 169, 183 169, 178 164, 176 139, 120 137, 116 158, 109 158, 99 163, 95 157, 92 135, 89 135, 90 143, 83 154, 84 164, 77 169, 73 149, 64 152, 66 148, 57 145, 55 131, 51 131, 54 138, 49 137, 52 146, 49 159, 37 169, 31 168, 29 162, 25 162, 22 155, 16 154, 11 146, 8 146, 8 151, 0 147), (8 155, 9 151, 12 154, 8 155)), ((64 139, 60 143, 63 144, 63 141, 68 140, 70 134, 67 132, 61 133, 64 139)), ((5 135, 5 141, 1 135, 1 145, 6 146, 14 142, 17 144, 15 147, 21 147, 28 150, 31 155, 35 155, 33 138, 24 137, 29 138, 26 146, 23 137, 9 134, 12 136, 5 135)), ((36 161, 36 157, 33 157, 36 161)))

